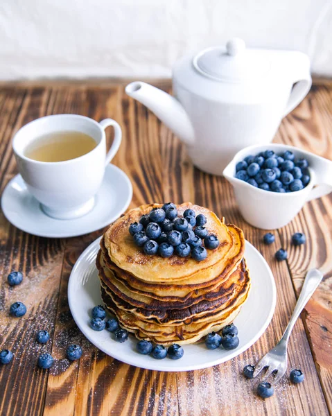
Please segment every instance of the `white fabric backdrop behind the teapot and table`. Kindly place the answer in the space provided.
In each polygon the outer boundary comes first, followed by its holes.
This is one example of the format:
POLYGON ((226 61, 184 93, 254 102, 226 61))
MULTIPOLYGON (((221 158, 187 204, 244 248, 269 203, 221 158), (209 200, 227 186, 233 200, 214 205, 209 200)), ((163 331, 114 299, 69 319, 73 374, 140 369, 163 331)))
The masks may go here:
POLYGON ((1 0, 0 79, 168 77, 234 36, 332 76, 332 0, 1 0))

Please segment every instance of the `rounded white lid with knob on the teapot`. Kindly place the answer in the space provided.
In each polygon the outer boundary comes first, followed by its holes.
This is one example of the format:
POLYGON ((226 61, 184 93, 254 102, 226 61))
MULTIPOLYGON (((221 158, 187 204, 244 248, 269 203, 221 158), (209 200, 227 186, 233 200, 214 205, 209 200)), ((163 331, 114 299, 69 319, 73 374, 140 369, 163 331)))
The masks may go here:
POLYGON ((213 80, 241 82, 259 78, 270 69, 263 51, 247 49, 242 39, 234 38, 225 46, 204 49, 193 58, 193 66, 213 80))

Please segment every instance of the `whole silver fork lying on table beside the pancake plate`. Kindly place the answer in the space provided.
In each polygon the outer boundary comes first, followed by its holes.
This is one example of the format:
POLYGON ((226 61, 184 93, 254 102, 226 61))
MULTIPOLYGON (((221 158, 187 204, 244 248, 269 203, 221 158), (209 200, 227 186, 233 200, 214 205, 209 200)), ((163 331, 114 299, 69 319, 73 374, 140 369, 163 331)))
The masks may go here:
POLYGON ((311 298, 311 295, 313 295, 315 292, 317 286, 320 284, 320 281, 322 281, 322 278, 323 275, 320 270, 311 269, 307 272, 301 293, 299 294, 299 299, 297 300, 294 312, 292 313, 290 321, 286 327, 285 332, 283 333, 281 340, 256 364, 253 374, 254 377, 256 377, 263 370, 263 368, 268 367, 264 374, 264 379, 268 379, 268 376, 274 372, 275 376, 272 380, 272 384, 275 384, 281 379, 283 374, 286 373, 287 344, 290 333, 297 318, 299 317, 299 314, 302 312, 302 309, 304 309, 304 306, 306 306, 306 302, 308 302, 308 300, 311 298))

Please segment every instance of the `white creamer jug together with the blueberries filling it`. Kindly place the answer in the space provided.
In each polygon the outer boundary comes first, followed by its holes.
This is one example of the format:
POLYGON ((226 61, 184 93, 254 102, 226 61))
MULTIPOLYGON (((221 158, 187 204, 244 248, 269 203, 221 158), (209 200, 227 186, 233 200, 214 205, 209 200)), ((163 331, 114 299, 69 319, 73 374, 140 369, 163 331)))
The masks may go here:
POLYGON ((305 202, 332 191, 332 162, 293 146, 255 145, 223 171, 243 218, 262 229, 288 224, 305 202))

